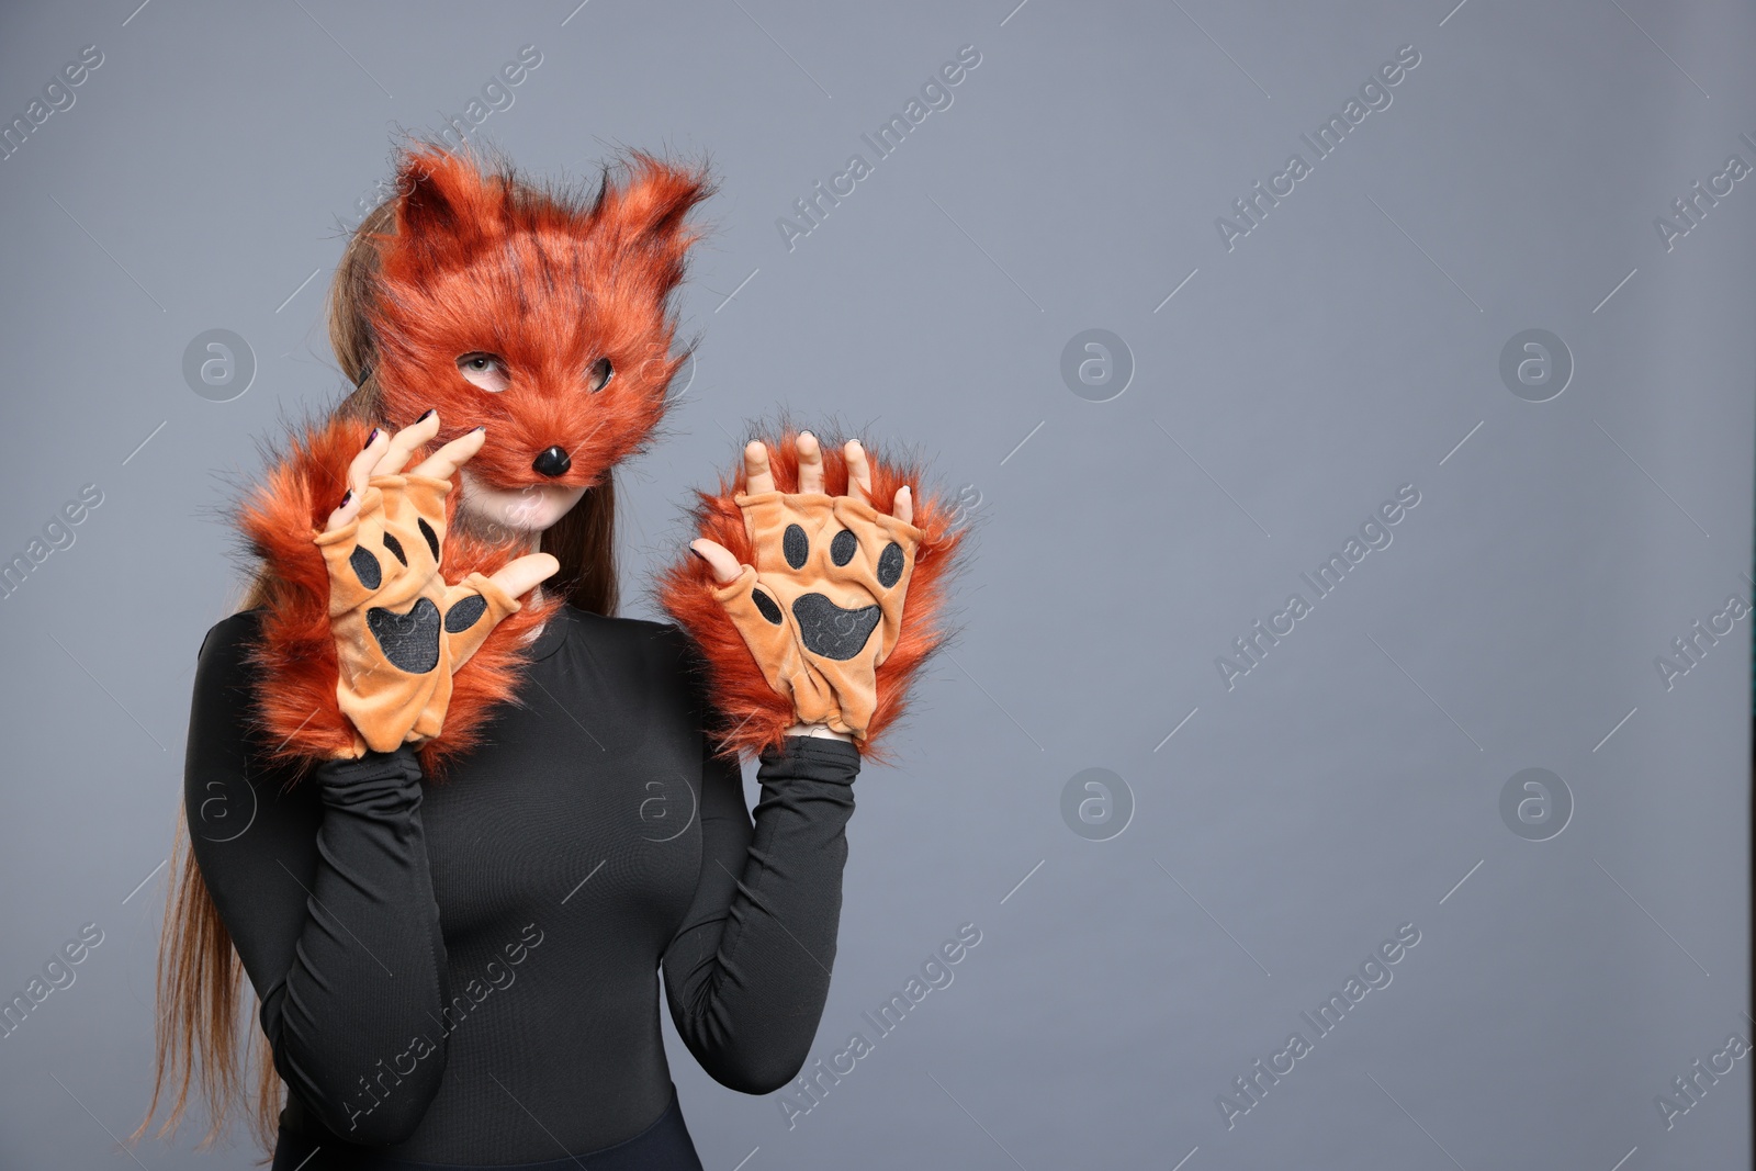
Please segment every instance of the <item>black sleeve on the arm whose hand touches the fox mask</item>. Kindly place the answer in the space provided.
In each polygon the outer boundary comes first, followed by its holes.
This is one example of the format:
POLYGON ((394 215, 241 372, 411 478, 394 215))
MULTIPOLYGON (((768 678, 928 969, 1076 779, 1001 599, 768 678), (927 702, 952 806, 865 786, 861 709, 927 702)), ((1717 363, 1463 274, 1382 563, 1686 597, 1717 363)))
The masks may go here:
POLYGON ((207 634, 184 760, 190 844, 262 999, 274 1067, 339 1138, 409 1138, 439 1092, 444 939, 414 753, 262 764, 244 653, 253 613, 207 634), (437 1052, 392 1069, 425 1036, 437 1052), (371 1088, 369 1088, 371 1087, 371 1088))

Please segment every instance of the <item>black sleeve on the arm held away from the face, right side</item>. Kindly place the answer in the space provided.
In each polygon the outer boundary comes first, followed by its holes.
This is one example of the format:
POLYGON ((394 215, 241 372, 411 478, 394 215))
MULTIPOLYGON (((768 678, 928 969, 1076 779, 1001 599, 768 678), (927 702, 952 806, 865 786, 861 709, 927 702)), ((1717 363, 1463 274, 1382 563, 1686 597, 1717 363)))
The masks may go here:
POLYGON ((664 955, 676 1031, 715 1081, 769 1094, 817 1038, 841 922, 859 750, 788 736, 764 753, 755 825, 736 762, 706 758, 701 876, 664 955))

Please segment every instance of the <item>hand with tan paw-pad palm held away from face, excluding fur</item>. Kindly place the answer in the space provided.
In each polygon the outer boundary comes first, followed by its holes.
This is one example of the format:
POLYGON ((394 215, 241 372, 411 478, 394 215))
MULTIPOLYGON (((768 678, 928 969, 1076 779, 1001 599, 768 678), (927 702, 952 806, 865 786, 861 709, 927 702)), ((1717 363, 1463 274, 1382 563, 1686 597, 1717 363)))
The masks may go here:
POLYGON ((903 602, 922 532, 913 495, 896 492, 890 511, 871 500, 871 467, 848 441, 848 495, 824 493, 824 453, 801 432, 799 492, 774 490, 767 448, 745 448, 745 492, 734 499, 755 548, 755 565, 706 537, 690 542, 713 569, 718 600, 769 686, 790 697, 799 720, 841 739, 866 736, 876 706, 874 672, 903 627, 903 602), (876 636, 876 637, 874 637, 876 636))

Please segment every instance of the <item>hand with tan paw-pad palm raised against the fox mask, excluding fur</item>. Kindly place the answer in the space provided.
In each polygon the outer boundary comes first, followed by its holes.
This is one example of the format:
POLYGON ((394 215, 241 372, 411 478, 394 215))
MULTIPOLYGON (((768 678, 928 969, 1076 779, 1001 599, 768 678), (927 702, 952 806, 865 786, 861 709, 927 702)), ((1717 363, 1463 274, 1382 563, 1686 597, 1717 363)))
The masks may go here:
POLYGON ((520 557, 492 578, 448 585, 439 574, 451 476, 481 449, 476 428, 413 471, 414 449, 439 432, 428 411, 395 435, 372 430, 348 465, 348 492, 314 542, 330 572, 330 627, 353 722, 355 751, 393 751, 439 732, 451 674, 495 625, 522 609, 518 595, 560 569, 548 553, 520 557))

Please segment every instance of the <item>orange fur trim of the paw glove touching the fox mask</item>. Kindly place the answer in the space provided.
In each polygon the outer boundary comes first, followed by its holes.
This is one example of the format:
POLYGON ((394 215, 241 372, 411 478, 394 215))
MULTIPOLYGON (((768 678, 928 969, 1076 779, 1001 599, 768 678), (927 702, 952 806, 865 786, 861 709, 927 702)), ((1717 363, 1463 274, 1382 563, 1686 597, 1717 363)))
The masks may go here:
MULTIPOLYGON (((277 760, 327 758, 353 746, 353 723, 335 699, 339 664, 328 616, 328 567, 311 537, 341 502, 348 463, 360 453, 367 430, 363 423, 339 418, 295 435, 286 458, 239 509, 239 528, 272 574, 262 637, 249 653, 258 681, 260 737, 277 760)), ((493 574, 516 553, 451 527, 457 499, 457 492, 446 497, 439 572, 446 581, 460 581, 471 571, 493 574)), ((515 697, 523 639, 560 602, 558 595, 539 604, 527 600, 457 672, 444 729, 418 750, 427 776, 439 776, 450 757, 474 748, 488 713, 515 697)))

